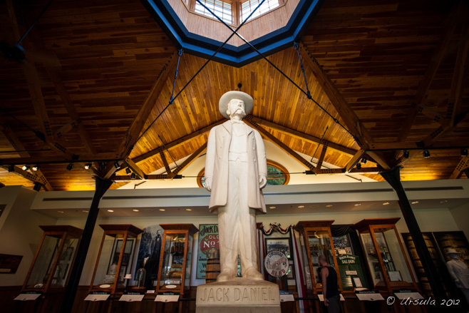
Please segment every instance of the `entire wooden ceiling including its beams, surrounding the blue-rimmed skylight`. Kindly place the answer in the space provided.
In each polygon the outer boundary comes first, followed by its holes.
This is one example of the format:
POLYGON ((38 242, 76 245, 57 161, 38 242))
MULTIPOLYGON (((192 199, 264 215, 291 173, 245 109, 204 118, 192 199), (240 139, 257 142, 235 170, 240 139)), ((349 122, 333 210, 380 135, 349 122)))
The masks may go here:
MULTIPOLYGON (((47 2, 2 1, 0 40, 18 41, 47 2)), ((328 114, 263 59, 241 68, 210 62, 189 83, 206 60, 187 53, 175 95, 188 85, 168 105, 179 47, 140 1, 56 0, 21 43, 26 62, 1 58, 0 183, 93 190, 98 175, 118 188, 129 180, 125 166, 143 175, 170 157, 200 154, 208 130, 223 121, 218 99, 238 83, 255 102, 247 122, 301 163, 294 151, 313 155, 327 128, 321 162, 353 172, 366 155, 374 162, 363 165, 364 175, 376 180, 383 180, 377 167, 396 165, 402 180, 466 178, 463 16, 465 1, 326 0, 299 51, 312 99, 328 114), (423 158, 424 148, 431 158, 423 158), (409 158, 401 158, 404 149, 409 158), (117 173, 114 160, 125 160, 117 173), (84 170, 88 162, 93 167, 84 170), (36 163, 40 173, 19 168, 36 163)), ((268 59, 306 91, 293 47, 268 59)), ((320 174, 315 166, 305 170, 320 174)))

